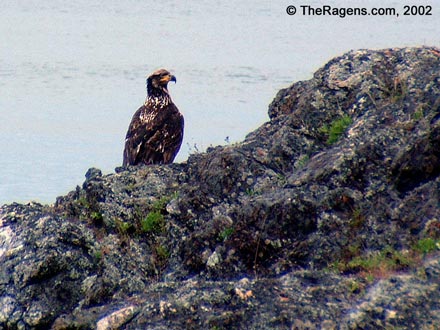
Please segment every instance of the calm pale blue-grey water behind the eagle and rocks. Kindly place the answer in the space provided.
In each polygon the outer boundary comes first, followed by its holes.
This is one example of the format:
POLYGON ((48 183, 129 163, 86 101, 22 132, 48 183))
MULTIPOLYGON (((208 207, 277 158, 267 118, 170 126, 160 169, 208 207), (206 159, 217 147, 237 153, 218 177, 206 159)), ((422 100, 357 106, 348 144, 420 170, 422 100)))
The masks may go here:
MULTIPOLYGON (((289 4, 349 1, 17 1, 0 3, 0 204, 51 203, 122 162, 145 76, 170 69, 185 115, 181 162, 239 141, 291 82, 351 49, 440 44, 433 16, 288 16, 289 4), (189 2, 188 2, 189 3, 189 2)), ((362 6, 400 8, 396 1, 362 6)))

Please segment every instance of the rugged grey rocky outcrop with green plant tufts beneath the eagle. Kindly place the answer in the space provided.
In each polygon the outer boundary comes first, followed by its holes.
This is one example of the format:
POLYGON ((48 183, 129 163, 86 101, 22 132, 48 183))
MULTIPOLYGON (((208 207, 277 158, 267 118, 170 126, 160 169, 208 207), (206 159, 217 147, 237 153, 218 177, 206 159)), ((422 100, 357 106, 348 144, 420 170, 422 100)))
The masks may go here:
POLYGON ((0 213, 0 328, 436 328, 440 50, 352 51, 186 163, 0 213))

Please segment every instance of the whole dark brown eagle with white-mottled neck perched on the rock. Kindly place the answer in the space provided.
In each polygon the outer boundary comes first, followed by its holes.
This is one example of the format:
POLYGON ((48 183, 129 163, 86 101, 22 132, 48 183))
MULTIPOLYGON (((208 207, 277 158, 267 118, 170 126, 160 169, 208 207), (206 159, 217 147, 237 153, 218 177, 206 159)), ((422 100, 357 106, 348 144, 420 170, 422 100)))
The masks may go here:
POLYGON ((147 99, 133 115, 125 137, 123 166, 172 163, 183 139, 183 116, 168 93, 176 77, 165 69, 147 79, 147 99))

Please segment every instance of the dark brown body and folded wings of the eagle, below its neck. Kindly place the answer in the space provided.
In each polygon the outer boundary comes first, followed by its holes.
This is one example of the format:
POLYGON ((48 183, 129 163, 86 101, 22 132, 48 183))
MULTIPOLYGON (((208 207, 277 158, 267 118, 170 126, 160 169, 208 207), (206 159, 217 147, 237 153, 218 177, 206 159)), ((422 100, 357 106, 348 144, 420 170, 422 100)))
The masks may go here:
POLYGON ((160 111, 140 107, 126 138, 123 165, 172 162, 183 138, 183 116, 174 104, 160 111))

